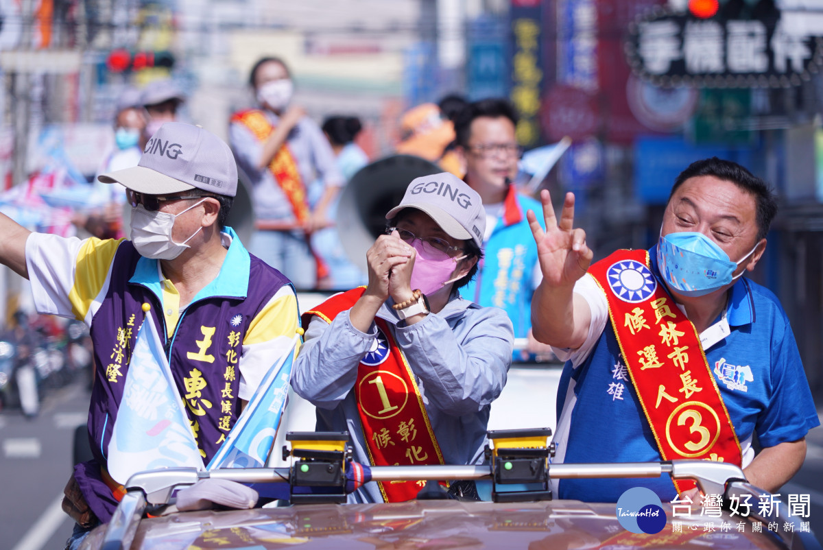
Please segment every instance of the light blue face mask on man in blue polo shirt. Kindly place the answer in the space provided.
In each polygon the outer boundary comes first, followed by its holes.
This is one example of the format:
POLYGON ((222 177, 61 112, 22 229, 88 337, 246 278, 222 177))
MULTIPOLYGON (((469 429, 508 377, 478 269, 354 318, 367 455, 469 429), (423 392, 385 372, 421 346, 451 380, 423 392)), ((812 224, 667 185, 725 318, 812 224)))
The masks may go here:
POLYGON ((672 291, 682 296, 704 296, 740 277, 743 272, 737 277, 732 273, 755 249, 756 245, 735 263, 703 233, 669 233, 661 235, 658 242, 658 268, 672 291))

